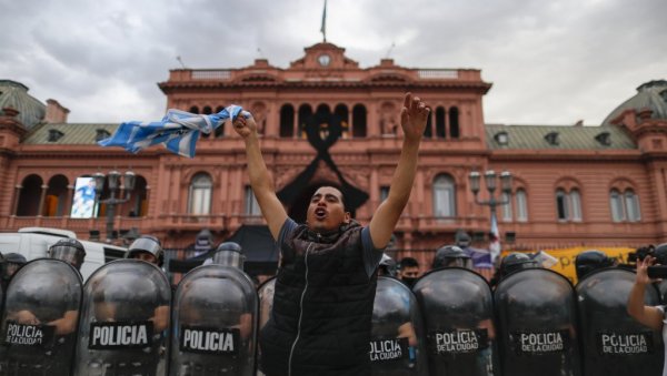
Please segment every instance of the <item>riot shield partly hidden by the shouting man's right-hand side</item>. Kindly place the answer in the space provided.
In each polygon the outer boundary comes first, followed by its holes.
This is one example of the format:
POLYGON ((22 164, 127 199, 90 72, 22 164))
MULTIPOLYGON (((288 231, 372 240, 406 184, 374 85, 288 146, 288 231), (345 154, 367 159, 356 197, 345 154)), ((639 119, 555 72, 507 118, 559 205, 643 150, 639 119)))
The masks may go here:
POLYGON ((371 375, 428 375, 424 326, 412 292, 394 277, 378 277, 370 332, 371 375))

